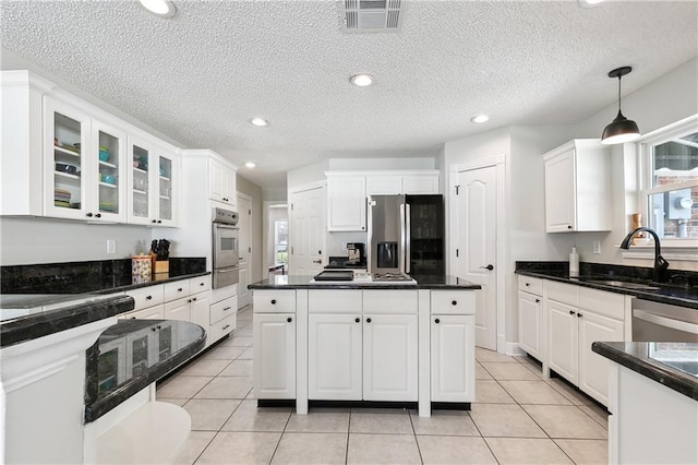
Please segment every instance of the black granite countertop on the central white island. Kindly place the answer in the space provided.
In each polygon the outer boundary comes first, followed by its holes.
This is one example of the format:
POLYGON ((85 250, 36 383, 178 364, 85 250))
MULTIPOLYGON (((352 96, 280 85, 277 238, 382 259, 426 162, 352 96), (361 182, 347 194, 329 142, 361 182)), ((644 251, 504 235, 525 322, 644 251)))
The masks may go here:
POLYGON ((479 284, 450 275, 413 275, 417 284, 399 283, 362 283, 357 282, 325 282, 312 283, 313 276, 282 275, 269 276, 248 285, 248 289, 480 289, 479 284))

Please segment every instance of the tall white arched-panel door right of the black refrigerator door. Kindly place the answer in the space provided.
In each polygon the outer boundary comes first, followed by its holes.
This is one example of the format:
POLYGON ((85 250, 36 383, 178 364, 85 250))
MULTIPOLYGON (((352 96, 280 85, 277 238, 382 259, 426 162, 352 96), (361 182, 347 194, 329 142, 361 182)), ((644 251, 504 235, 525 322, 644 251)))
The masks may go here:
POLYGON ((495 166, 458 174, 456 274, 477 291, 476 345, 497 349, 497 172, 495 166))

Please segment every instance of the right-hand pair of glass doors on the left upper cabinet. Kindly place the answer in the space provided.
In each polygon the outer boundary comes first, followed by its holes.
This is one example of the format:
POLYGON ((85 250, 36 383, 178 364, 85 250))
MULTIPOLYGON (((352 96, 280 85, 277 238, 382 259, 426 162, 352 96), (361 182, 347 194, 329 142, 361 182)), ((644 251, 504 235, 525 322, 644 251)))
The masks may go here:
POLYGON ((156 141, 129 136, 129 223, 177 226, 179 158, 156 141))

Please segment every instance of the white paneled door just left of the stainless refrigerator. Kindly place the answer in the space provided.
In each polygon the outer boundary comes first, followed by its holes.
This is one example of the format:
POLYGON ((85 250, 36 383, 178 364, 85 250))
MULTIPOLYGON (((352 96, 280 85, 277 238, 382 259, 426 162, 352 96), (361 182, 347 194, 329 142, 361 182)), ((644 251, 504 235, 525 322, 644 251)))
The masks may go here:
POLYGON ((289 274, 314 276, 324 266, 325 188, 291 193, 289 274))

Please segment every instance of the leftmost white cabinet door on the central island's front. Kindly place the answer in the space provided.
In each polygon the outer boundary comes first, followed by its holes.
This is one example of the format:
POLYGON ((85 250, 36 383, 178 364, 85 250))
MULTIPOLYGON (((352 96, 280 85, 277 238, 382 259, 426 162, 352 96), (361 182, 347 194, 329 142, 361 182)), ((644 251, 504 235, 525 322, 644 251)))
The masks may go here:
POLYGON ((256 398, 296 398, 296 314, 255 313, 253 381, 256 398))

